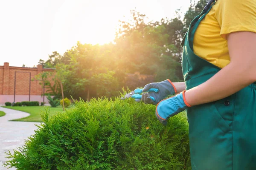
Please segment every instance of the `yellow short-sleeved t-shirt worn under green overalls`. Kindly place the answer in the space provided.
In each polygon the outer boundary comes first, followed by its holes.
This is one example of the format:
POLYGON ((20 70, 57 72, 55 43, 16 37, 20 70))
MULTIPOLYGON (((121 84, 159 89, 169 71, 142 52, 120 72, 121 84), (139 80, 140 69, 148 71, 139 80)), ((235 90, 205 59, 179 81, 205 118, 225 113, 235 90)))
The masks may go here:
POLYGON ((194 53, 224 68, 230 63, 226 35, 236 31, 256 32, 256 0, 217 0, 195 32, 194 53))

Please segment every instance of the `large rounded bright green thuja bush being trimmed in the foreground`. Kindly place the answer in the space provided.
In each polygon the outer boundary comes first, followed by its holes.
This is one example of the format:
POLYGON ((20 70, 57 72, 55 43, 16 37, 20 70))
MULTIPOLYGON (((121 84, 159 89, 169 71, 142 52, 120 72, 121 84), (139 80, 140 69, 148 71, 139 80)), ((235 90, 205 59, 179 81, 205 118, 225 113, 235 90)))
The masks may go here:
POLYGON ((133 99, 75 102, 42 116, 23 147, 6 153, 20 170, 188 170, 188 123, 183 114, 165 127, 155 106, 133 99))

